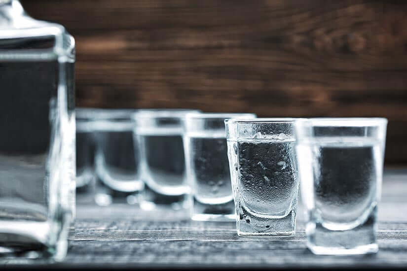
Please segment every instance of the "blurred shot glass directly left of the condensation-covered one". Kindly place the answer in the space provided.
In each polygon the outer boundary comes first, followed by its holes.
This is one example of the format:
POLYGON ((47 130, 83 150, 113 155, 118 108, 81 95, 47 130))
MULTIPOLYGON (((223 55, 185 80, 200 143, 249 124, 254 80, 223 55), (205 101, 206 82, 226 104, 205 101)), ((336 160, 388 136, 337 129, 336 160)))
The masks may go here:
POLYGON ((185 162, 193 220, 235 220, 224 126, 224 121, 230 118, 256 118, 256 115, 190 113, 185 116, 185 162))

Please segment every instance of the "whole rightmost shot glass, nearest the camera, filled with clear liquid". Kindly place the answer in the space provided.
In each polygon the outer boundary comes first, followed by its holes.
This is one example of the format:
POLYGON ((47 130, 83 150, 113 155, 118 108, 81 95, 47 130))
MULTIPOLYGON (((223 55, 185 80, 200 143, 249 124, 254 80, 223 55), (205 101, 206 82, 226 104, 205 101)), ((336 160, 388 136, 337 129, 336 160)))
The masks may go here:
POLYGON ((387 120, 297 120, 301 198, 315 254, 375 253, 387 120))

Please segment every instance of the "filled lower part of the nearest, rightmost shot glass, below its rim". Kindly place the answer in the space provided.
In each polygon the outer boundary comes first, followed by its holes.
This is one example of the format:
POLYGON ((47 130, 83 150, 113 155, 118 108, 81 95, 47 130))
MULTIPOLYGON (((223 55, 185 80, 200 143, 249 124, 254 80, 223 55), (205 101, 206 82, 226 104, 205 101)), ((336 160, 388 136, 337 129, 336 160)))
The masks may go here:
POLYGON ((297 151, 304 156, 300 161, 311 163, 311 167, 299 165, 304 169, 301 193, 309 201, 306 205, 312 206, 306 228, 310 249, 317 254, 377 251, 380 142, 370 138, 319 137, 309 145, 297 146, 297 151))

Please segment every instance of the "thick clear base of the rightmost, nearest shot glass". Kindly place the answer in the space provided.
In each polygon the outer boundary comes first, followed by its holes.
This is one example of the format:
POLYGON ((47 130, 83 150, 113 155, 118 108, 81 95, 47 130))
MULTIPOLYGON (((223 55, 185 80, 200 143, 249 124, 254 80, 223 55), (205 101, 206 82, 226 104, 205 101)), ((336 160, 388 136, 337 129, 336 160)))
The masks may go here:
POLYGON ((307 246, 318 255, 355 255, 378 251, 374 212, 365 223, 344 231, 333 231, 321 223, 308 222, 307 246))

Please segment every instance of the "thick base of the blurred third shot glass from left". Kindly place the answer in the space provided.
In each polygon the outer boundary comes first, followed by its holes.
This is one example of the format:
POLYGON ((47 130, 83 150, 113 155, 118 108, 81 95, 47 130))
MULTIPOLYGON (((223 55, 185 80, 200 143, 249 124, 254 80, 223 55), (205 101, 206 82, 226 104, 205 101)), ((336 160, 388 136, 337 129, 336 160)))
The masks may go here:
POLYGON ((145 184, 144 191, 140 197, 140 207, 144 210, 160 208, 179 211, 190 209, 191 202, 188 194, 177 196, 164 195, 155 192, 145 184))

